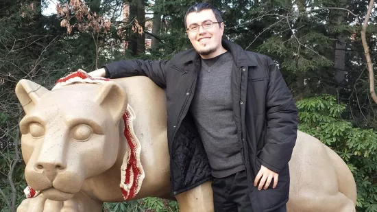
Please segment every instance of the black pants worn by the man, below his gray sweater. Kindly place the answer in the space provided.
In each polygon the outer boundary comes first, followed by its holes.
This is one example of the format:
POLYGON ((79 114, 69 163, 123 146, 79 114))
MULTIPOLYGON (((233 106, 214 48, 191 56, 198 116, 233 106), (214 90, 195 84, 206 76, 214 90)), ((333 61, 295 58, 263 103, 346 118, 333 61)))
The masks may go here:
MULTIPOLYGON (((262 212, 253 211, 249 198, 246 172, 236 172, 225 178, 214 178, 212 182, 215 212, 262 212)), ((280 207, 271 212, 286 212, 280 207)))

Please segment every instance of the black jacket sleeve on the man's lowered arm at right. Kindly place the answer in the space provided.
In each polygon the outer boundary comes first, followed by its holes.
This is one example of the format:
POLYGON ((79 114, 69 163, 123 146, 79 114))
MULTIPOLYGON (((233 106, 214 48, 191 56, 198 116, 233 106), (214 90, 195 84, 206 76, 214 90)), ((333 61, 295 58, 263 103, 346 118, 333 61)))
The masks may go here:
POLYGON ((298 112, 291 92, 271 58, 268 58, 267 66, 267 133, 259 159, 262 165, 279 173, 291 160, 297 138, 298 112))

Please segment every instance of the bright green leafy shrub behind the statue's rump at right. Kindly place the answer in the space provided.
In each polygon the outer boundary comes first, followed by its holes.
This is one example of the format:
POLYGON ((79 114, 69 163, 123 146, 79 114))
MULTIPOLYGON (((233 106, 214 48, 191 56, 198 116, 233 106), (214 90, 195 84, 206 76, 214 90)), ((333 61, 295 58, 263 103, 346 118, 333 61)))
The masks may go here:
POLYGON ((337 104, 331 95, 302 99, 297 102, 300 110, 300 130, 313 135, 348 164, 358 191, 358 211, 377 211, 377 131, 355 128, 342 119, 346 106, 337 104))

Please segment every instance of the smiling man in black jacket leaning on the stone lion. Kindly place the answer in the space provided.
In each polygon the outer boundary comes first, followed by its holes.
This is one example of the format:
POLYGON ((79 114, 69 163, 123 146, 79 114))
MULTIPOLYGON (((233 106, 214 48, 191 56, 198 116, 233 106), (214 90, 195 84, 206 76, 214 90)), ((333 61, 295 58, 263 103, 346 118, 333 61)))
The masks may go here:
POLYGON ((208 3, 191 6, 185 25, 194 49, 90 75, 146 75, 166 90, 173 195, 213 180, 215 211, 286 211, 297 108, 278 67, 223 40, 208 3))

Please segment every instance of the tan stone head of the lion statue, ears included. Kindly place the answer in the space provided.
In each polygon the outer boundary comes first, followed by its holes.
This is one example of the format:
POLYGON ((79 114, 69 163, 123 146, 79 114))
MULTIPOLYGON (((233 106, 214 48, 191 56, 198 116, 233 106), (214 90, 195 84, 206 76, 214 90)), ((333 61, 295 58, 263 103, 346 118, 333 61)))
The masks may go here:
POLYGON ((72 84, 49 91, 21 80, 25 110, 21 149, 27 184, 51 200, 68 200, 84 180, 114 165, 127 95, 114 82, 72 84))

